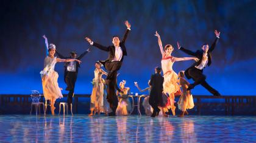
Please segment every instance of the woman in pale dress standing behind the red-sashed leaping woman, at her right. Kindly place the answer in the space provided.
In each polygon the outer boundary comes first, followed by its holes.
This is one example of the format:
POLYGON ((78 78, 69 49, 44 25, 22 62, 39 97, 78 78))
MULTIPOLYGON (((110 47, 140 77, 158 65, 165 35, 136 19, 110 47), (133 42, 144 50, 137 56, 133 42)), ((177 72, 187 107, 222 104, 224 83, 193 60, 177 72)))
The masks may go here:
POLYGON ((190 83, 185 80, 184 71, 179 72, 178 78, 179 85, 182 88, 182 94, 178 102, 178 108, 182 111, 182 113, 180 113, 179 117, 183 117, 185 113, 188 114, 188 109, 194 108, 194 101, 191 91, 187 91, 188 85, 190 85, 190 83))

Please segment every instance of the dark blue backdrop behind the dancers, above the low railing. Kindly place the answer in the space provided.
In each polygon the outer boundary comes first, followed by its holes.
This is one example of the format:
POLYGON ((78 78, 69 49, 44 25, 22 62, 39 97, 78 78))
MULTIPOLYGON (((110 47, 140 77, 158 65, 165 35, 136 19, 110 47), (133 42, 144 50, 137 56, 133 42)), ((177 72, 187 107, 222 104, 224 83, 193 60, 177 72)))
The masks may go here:
MULTIPOLYGON (((155 66, 160 66, 155 30, 164 45, 175 47, 173 56, 184 57, 188 55, 178 51, 177 40, 196 51, 202 43, 211 44, 218 29, 221 35, 213 63, 204 71, 207 82, 223 95, 256 94, 256 1, 1 1, 0 5, 0 94, 29 94, 31 89, 42 92, 42 35, 64 55, 70 51, 81 54, 90 47, 85 35, 110 45, 113 35, 123 37, 126 19, 132 30, 118 81, 126 80, 132 92, 138 92, 133 82, 146 88, 155 66)), ((75 93, 91 93, 94 62, 105 58, 107 52, 93 47, 82 59, 75 93)), ((192 63, 177 62, 173 69, 179 72, 192 63)), ((60 87, 65 88, 63 63, 57 63, 55 71, 59 72, 60 87)), ((193 94, 210 93, 197 86, 193 94)))

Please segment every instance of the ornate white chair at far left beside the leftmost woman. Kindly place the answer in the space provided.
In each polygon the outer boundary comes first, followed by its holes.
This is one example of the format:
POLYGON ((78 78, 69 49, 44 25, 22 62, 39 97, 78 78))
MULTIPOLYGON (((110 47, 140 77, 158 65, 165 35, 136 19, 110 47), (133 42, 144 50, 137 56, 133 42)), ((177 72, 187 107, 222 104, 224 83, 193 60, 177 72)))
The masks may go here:
POLYGON ((43 102, 39 102, 41 94, 39 91, 37 90, 32 90, 32 94, 30 95, 31 99, 32 99, 32 103, 30 105, 30 114, 32 114, 32 108, 33 106, 35 106, 35 114, 37 115, 37 110, 39 108, 39 113, 40 113, 40 107, 41 105, 43 105, 43 111, 45 114, 45 110, 44 110, 44 103, 43 102))

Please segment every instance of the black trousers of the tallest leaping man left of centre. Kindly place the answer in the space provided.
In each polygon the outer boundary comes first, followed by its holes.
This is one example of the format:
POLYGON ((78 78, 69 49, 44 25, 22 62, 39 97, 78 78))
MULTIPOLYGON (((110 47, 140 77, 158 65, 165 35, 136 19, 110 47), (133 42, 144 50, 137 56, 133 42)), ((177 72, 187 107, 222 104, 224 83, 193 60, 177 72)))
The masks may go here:
POLYGON ((118 106, 118 97, 116 96, 115 86, 117 82, 116 75, 121 66, 121 61, 107 61, 104 63, 104 67, 108 71, 106 78, 107 101, 110 104, 110 108, 112 109, 113 113, 116 112, 116 108, 118 106))

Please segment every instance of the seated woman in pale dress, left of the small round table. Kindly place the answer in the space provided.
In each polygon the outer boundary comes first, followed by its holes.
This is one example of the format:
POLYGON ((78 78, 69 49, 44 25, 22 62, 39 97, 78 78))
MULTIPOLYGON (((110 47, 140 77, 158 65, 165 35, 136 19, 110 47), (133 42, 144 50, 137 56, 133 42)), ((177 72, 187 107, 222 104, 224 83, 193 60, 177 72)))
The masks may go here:
POLYGON ((116 115, 128 115, 128 113, 132 110, 132 105, 128 99, 130 95, 130 88, 125 87, 126 81, 123 80, 119 83, 120 90, 122 92, 116 91, 116 95, 118 95, 118 107, 116 108, 116 115))

